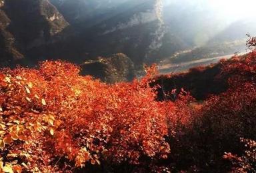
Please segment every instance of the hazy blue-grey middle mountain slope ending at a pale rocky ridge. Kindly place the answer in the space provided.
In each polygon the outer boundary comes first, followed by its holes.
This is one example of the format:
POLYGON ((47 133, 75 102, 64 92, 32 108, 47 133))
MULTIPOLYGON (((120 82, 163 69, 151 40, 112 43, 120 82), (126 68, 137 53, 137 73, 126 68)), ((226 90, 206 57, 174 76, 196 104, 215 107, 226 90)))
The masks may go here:
POLYGON ((163 22, 162 0, 51 0, 51 3, 77 31, 73 38, 74 57, 86 59, 85 53, 88 57, 98 57, 121 52, 139 68, 143 63, 158 61, 183 49, 183 43, 167 31, 163 22))

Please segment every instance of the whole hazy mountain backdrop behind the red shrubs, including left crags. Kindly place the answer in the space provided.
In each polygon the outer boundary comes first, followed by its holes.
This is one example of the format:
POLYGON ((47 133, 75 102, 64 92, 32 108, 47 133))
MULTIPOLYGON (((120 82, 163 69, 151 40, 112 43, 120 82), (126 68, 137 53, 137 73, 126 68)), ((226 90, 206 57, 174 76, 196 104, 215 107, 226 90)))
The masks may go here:
POLYGON ((4 67, 46 59, 81 65, 123 53, 140 70, 244 50, 256 28, 188 0, 5 0, 0 15, 4 67))

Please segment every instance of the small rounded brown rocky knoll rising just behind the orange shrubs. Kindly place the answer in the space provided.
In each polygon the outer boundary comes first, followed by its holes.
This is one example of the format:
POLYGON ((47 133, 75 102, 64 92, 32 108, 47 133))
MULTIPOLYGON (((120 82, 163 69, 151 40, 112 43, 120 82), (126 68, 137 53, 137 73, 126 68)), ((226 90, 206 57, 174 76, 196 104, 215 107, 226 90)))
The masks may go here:
POLYGON ((107 83, 131 81, 135 77, 133 62, 123 53, 111 57, 98 57, 81 65, 82 75, 91 75, 107 83))

